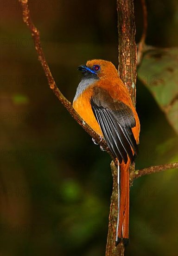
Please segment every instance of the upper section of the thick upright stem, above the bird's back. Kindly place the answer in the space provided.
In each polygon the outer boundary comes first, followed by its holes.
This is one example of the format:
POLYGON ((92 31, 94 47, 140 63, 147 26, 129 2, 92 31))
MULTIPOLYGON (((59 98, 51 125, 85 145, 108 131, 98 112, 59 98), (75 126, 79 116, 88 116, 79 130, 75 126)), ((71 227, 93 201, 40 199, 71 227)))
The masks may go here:
POLYGON ((119 74, 132 101, 136 102, 136 44, 133 0, 117 0, 119 74))

